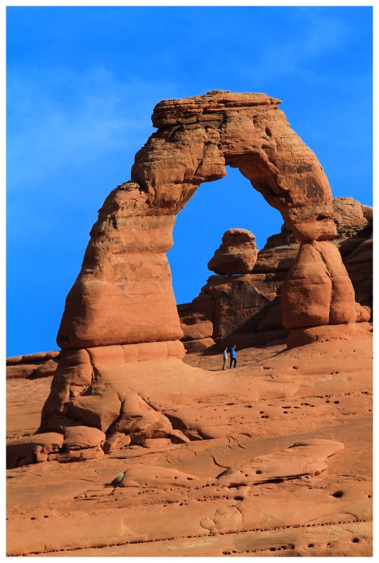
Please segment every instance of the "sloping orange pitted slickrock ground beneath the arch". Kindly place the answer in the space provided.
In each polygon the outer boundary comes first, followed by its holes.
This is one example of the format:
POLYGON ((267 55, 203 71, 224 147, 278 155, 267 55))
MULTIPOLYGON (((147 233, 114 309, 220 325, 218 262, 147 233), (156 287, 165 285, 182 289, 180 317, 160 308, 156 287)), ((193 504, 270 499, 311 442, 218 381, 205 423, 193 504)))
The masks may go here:
MULTIPOLYGON (((198 438, 101 455, 99 430, 33 437, 58 451, 8 469, 8 555, 370 557, 370 341, 247 348, 227 372, 219 354, 186 361, 98 362, 198 438)), ((20 381, 8 379, 13 441, 49 392, 49 378, 25 379, 18 402, 20 381)))

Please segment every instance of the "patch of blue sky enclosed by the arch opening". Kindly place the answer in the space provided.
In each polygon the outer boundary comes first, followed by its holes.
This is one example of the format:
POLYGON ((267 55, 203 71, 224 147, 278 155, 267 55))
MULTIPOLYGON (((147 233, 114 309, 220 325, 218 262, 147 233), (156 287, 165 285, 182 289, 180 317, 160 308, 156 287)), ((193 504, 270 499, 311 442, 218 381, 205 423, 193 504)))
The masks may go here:
POLYGON ((213 274, 207 262, 219 247, 226 230, 248 229, 263 248, 271 234, 281 231, 283 218, 252 189, 240 171, 226 165, 226 175, 199 186, 176 216, 174 244, 167 252, 176 303, 195 298, 213 274))

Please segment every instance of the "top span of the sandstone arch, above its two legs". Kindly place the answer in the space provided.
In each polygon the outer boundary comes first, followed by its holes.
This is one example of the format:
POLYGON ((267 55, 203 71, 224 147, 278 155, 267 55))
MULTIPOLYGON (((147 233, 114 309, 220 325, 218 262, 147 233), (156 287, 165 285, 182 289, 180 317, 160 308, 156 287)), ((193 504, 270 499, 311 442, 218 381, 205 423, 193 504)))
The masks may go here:
POLYGON ((224 177, 226 165, 238 167, 297 239, 334 239, 328 179, 279 103, 221 90, 160 101, 152 115, 158 131, 136 154, 131 179, 148 192, 155 213, 176 214, 200 183, 224 177))

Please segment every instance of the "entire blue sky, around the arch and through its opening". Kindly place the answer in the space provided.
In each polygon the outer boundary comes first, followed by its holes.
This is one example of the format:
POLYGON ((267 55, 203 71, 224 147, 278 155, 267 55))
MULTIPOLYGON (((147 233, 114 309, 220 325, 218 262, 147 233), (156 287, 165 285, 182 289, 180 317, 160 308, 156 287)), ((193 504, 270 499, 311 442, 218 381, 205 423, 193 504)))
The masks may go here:
MULTIPOLYGON (((53 350, 105 196, 127 181, 162 99, 283 100, 334 196, 372 205, 371 7, 8 7, 7 355, 53 350)), ((226 229, 259 248, 281 216, 236 170, 203 184, 169 251, 178 303, 226 229)))

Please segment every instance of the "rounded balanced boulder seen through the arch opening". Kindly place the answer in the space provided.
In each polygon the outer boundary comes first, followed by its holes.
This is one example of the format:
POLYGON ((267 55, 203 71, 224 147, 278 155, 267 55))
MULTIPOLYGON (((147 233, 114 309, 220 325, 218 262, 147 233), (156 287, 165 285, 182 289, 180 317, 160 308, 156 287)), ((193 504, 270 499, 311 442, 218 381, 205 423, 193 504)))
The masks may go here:
POLYGON ((229 229, 222 236, 221 246, 208 262, 216 274, 248 274, 257 262, 255 236, 246 229, 229 229))

